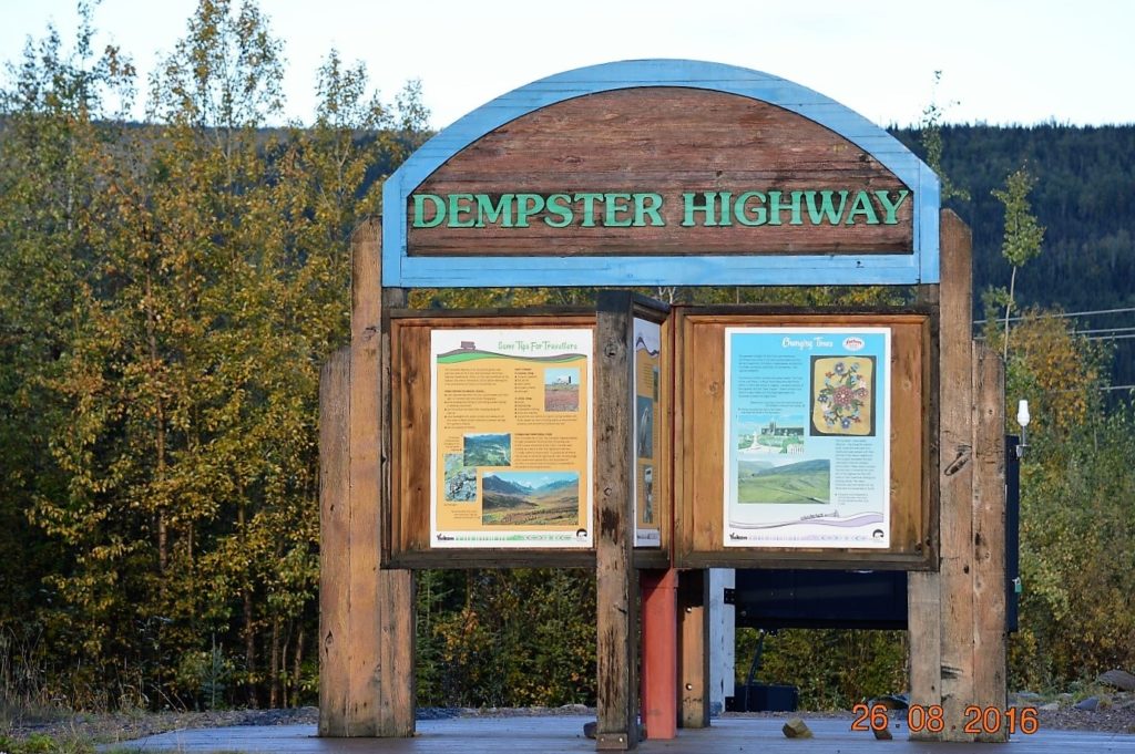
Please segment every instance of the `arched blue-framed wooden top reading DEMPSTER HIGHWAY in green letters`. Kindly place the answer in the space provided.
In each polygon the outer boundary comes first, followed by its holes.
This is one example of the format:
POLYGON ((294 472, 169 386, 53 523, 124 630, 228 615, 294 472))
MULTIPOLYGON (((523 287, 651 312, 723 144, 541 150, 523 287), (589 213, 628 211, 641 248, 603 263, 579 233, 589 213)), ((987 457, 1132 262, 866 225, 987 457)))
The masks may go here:
POLYGON ((939 280, 939 183, 807 87, 690 60, 533 82, 384 187, 387 287, 939 280))

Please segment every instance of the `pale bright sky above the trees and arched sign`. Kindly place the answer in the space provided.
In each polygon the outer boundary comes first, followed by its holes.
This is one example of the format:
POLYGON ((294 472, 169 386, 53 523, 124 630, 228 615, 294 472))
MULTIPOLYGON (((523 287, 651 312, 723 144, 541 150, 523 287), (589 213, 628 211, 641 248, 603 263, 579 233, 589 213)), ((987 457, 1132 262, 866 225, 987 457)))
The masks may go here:
MULTIPOLYGON (((95 44, 118 44, 144 76, 185 34, 195 7, 196 0, 102 0, 95 44)), ((346 61, 365 62, 385 101, 420 79, 434 128, 545 76, 641 58, 762 70, 884 127, 917 124, 931 102, 948 122, 1135 122, 1132 0, 260 0, 260 7, 284 41, 287 117, 301 122, 312 120, 314 74, 333 48, 346 61)), ((73 40, 77 14, 74 0, 0 0, 0 60, 11 62, 48 23, 73 40)))

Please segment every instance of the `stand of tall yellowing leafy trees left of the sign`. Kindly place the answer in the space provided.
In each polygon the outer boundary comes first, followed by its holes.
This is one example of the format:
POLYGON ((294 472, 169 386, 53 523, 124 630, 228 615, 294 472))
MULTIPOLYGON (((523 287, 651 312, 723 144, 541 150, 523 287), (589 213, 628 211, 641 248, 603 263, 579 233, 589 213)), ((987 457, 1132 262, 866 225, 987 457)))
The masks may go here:
MULTIPOLYGON (((133 70, 91 53, 83 18, 75 53, 51 32, 11 71, 0 132, 0 379, 23 386, 0 400, 37 443, 3 454, 0 519, 42 539, 49 685, 186 705, 222 668, 209 704, 221 686, 295 703, 316 659, 319 366, 347 338, 375 171, 422 138, 420 86, 387 109, 333 52, 314 126, 269 128, 281 43, 254 3, 202 0, 129 127, 103 102, 133 70)), ((10 578, 30 603, 35 574, 10 578)))

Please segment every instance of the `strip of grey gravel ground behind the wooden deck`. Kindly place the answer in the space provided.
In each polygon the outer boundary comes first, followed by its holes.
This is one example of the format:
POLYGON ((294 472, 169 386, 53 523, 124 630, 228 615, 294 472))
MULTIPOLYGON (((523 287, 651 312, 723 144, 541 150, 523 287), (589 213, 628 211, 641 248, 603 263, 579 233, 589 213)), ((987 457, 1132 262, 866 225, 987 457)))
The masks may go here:
MULTIPOLYGON (((1096 710, 1078 710, 1070 705, 1054 710, 1040 709, 1041 729, 1098 730, 1135 735, 1135 694, 1118 694, 1115 696, 1104 696, 1101 700, 1105 701, 1096 710)), ((581 704, 569 704, 562 708, 421 708, 418 710, 419 720, 438 720, 457 717, 538 717, 549 714, 594 715, 595 709, 581 704)), ((896 711, 893 714, 903 713, 896 711)), ((724 717, 785 720, 792 717, 800 717, 806 721, 818 718, 846 718, 848 725, 852 720, 852 715, 849 712, 726 712, 724 717)), ((57 739, 112 744, 186 728, 316 725, 318 722, 319 710, 313 706, 291 710, 123 712, 116 714, 60 715, 51 720, 16 720, 8 726, 9 730, 0 727, 0 736, 8 735, 16 739, 23 739, 32 734, 41 734, 57 739)))

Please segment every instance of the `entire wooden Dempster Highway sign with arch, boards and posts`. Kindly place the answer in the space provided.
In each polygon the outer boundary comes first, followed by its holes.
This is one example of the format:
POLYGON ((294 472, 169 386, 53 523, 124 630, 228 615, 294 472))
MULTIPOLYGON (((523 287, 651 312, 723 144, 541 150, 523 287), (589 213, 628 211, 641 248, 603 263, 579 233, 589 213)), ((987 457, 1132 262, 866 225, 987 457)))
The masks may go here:
POLYGON ((947 722, 919 737, 973 739, 964 709, 1004 704, 1001 373, 970 340, 968 231, 893 137, 757 71, 611 63, 462 118, 384 203, 354 236, 352 344, 321 382, 320 735, 413 732, 422 567, 594 565, 599 748, 633 747, 640 710, 650 737, 708 725, 708 566, 911 570, 911 702, 947 722), (420 286, 684 285, 906 285, 918 303, 404 308, 420 286), (759 348, 799 332, 825 355, 777 357, 797 376, 754 392, 759 348), (780 465, 791 494, 758 478, 780 465), (776 545, 750 534, 784 524, 764 503, 818 512, 776 545), (657 545, 637 541, 656 522, 657 545))

